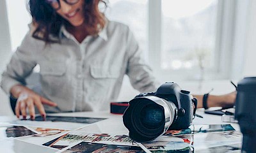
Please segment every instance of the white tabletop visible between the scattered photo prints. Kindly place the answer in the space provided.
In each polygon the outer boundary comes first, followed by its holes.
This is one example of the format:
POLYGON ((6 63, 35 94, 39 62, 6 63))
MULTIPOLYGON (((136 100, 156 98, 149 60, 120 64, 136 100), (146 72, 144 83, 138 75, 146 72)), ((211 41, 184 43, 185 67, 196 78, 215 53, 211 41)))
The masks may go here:
MULTIPOLYGON (((202 115, 204 119, 201 119, 199 117, 196 117, 193 120, 193 124, 230 124, 227 122, 222 122, 221 121, 221 116, 218 115, 209 115, 205 114, 202 110, 198 110, 197 112, 199 115, 202 115)), ((72 116, 72 117, 99 117, 99 118, 108 118, 106 120, 101 120, 100 122, 96 122, 94 124, 91 124, 90 126, 86 126, 83 129, 79 129, 79 131, 84 131, 84 132, 90 132, 90 133, 113 133, 115 135, 127 135, 128 130, 125 128, 123 122, 122 122, 122 115, 113 115, 108 112, 76 112, 76 113, 58 113, 54 115, 61 115, 61 116, 72 116)), ((15 117, 0 117, 0 124, 1 122, 3 123, 4 121, 10 121, 10 120, 15 120, 15 117)), ((68 125, 68 124, 67 124, 68 125)), ((237 131, 239 131, 239 126, 238 124, 232 123, 231 124, 237 131)), ((65 132, 64 132, 65 133, 65 132)), ((19 137, 17 139, 21 140, 22 142, 26 143, 33 143, 35 145, 40 145, 40 149, 36 149, 36 152, 56 152, 58 150, 50 150, 48 147, 42 147, 42 144, 45 142, 51 141, 53 138, 56 138, 58 136, 63 135, 63 133, 60 133, 58 135, 54 136, 44 136, 40 138, 31 138, 31 136, 24 136, 24 137, 19 137)), ((0 134, 1 136, 1 134, 0 134)), ((10 141, 10 140, 8 140, 10 141)), ((2 145, 0 144, 0 152, 3 152, 6 150, 3 150, 4 145, 10 144, 7 140, 1 140, 2 145), (3 143, 4 142, 4 143, 3 143), (2 151, 3 150, 3 151, 2 151)), ((16 140, 15 140, 16 141, 16 140)), ((20 143, 20 142, 19 142, 20 143)), ((17 152, 33 152, 33 146, 29 148, 24 149, 24 145, 22 143, 18 144, 15 143, 15 147, 13 147, 13 150, 19 150, 17 152), (15 148, 15 149, 14 149, 15 148), (22 150, 22 151, 21 151, 22 150)), ((15 152, 15 151, 14 151, 15 152)))

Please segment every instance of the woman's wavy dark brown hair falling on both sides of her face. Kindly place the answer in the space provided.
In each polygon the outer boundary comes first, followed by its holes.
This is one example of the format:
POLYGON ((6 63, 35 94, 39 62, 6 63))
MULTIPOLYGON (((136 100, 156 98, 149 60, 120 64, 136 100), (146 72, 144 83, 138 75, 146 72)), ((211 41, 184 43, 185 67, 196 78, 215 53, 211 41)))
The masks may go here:
MULTIPOLYGON (((104 13, 99 10, 99 3, 107 6, 106 0, 84 0, 84 22, 90 35, 98 34, 106 24, 104 13)), ((67 20, 58 15, 45 0, 29 0, 29 11, 35 25, 32 36, 46 43, 60 42, 60 40, 50 38, 50 34, 58 39, 60 27, 68 24, 67 20)))

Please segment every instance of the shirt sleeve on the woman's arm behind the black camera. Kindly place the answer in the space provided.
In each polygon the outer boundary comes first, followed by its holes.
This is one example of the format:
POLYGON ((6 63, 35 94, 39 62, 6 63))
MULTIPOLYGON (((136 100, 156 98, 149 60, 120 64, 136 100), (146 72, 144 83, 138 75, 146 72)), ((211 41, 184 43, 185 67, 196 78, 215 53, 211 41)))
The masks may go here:
POLYGON ((153 92, 159 86, 159 82, 152 74, 152 69, 145 62, 143 53, 132 32, 127 29, 127 54, 129 55, 126 74, 134 89, 140 92, 153 92))

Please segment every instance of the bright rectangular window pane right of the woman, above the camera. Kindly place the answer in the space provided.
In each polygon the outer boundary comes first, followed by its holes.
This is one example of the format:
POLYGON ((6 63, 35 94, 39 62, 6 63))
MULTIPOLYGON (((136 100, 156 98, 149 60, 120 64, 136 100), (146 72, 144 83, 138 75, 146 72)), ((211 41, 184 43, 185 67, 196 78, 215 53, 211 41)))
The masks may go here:
POLYGON ((217 0, 163 0, 161 68, 214 66, 217 0))

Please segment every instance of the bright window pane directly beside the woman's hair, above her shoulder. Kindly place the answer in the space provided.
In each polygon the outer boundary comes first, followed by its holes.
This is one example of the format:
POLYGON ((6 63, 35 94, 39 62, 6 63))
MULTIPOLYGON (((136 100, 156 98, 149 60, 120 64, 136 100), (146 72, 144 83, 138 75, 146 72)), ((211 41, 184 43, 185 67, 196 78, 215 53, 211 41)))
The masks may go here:
POLYGON ((109 0, 106 17, 129 25, 140 48, 147 54, 147 0, 109 0))

